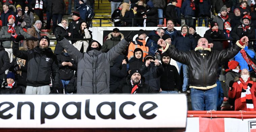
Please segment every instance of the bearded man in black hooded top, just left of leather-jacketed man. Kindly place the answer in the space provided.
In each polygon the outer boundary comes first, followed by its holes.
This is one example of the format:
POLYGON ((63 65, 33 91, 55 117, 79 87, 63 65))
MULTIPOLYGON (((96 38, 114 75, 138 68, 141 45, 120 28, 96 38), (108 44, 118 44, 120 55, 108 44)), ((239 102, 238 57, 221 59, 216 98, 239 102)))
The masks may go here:
POLYGON ((181 85, 178 70, 175 66, 170 65, 170 60, 170 56, 164 52, 161 59, 164 67, 164 73, 160 79, 161 94, 178 94, 178 89, 181 85))

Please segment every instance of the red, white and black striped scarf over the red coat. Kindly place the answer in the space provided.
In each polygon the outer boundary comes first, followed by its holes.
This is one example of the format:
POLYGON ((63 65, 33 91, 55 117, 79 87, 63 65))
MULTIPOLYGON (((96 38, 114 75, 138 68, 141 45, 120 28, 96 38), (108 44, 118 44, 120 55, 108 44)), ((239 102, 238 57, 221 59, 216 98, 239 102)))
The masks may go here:
MULTIPOLYGON (((248 111, 254 111, 253 101, 252 101, 252 94, 251 94, 251 87, 253 81, 249 81, 248 84, 242 78, 239 78, 238 85, 242 88, 241 91, 241 102, 246 103, 246 107, 248 111)), ((248 78, 250 80, 250 77, 248 78)))

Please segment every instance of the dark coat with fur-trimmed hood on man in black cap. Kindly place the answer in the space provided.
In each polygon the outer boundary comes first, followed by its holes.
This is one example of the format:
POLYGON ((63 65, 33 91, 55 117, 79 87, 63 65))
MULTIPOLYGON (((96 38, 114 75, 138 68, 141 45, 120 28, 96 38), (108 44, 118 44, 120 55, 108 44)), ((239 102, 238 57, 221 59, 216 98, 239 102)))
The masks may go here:
POLYGON ((108 34, 107 40, 102 45, 102 52, 107 53, 111 48, 117 45, 124 38, 123 34, 120 33, 118 37, 113 37, 111 33, 108 34))

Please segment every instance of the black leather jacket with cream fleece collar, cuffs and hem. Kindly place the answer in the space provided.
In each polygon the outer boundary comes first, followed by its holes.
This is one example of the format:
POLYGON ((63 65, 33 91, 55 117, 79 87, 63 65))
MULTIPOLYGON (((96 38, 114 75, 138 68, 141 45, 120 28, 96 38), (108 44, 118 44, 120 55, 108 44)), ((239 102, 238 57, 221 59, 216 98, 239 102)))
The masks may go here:
POLYGON ((168 53, 173 60, 189 67, 190 88, 211 89, 217 86, 216 76, 219 64, 234 57, 241 50, 241 47, 237 41, 236 45, 228 48, 228 50, 215 51, 206 48, 204 50, 206 55, 201 55, 202 47, 196 47, 194 51, 190 52, 179 52, 167 44, 163 52, 168 53))

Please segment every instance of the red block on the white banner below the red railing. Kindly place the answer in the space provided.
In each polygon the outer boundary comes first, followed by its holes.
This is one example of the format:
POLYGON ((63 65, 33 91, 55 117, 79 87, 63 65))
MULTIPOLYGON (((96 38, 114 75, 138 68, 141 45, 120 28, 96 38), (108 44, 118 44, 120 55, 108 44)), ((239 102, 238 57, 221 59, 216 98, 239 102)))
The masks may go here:
POLYGON ((225 132, 224 118, 199 118, 199 132, 225 132))

